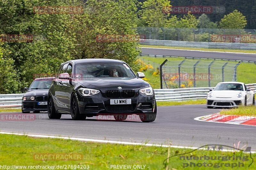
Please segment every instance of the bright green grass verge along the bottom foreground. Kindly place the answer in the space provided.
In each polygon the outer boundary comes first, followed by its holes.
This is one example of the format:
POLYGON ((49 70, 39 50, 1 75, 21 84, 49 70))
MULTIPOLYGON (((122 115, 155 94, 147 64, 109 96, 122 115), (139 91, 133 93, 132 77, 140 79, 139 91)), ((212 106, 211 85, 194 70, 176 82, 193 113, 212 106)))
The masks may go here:
MULTIPOLYGON (((101 144, 92 142, 79 142, 64 139, 51 138, 32 138, 27 136, 0 134, 0 165, 11 166, 57 166, 57 165, 89 165, 89 169, 104 170, 114 169, 111 165, 146 165, 145 169, 163 169, 164 159, 167 158, 168 148, 141 145, 122 145, 122 144, 101 144), (35 154, 80 154, 82 160, 35 160, 35 154)), ((170 148, 170 156, 191 152, 191 149, 170 148)), ((249 156, 242 152, 218 152, 196 150, 182 156, 196 158, 200 156, 249 156)), ((255 154, 252 157, 255 158, 255 154)), ((183 158, 182 158, 183 159, 183 158)), ((184 169, 183 163, 189 163, 189 160, 180 160, 176 156, 170 159, 169 169, 184 169)), ((194 163, 238 163, 238 161, 221 160, 193 160, 194 163)), ((248 169, 252 159, 240 161, 244 163, 244 168, 248 169)), ((186 165, 186 164, 185 164, 186 165)), ((223 165, 222 165, 223 166, 223 165)), ((250 166, 255 169, 256 163, 250 166)), ((23 169, 23 168, 19 168, 23 169)), ((43 169, 43 168, 41 168, 43 169)), ((56 169, 56 168, 55 168, 56 169)), ((68 169, 68 168, 67 168, 68 169)), ((69 168, 71 169, 71 168, 69 168)), ((74 168, 73 168, 74 169, 74 168)), ((133 169, 133 168, 132 168, 133 169)), ((206 167, 194 167, 187 169, 209 169, 206 167)), ((230 169, 230 167, 221 167, 221 169, 230 169)), ((239 168, 240 169, 240 168, 239 168)))

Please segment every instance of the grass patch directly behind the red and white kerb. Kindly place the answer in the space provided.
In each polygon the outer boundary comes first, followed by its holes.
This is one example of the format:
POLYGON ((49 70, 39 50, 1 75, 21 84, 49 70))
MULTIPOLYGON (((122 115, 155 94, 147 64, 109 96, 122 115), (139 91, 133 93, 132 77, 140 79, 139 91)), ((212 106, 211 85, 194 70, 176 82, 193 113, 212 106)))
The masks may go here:
POLYGON ((223 109, 222 115, 256 116, 256 106, 240 106, 232 109, 223 109))

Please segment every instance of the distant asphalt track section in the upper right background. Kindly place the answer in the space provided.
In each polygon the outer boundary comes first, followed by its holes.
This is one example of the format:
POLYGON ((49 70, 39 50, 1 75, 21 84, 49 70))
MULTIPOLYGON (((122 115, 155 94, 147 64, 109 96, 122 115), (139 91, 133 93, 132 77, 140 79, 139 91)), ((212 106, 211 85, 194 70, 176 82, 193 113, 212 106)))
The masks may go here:
POLYGON ((208 52, 208 51, 189 51, 189 50, 175 50, 175 49, 157 49, 157 48, 141 48, 142 54, 151 55, 174 55, 174 56, 187 56, 187 57, 209 57, 220 59, 233 59, 233 60, 248 60, 256 61, 256 54, 240 54, 240 53, 221 53, 221 52, 208 52))

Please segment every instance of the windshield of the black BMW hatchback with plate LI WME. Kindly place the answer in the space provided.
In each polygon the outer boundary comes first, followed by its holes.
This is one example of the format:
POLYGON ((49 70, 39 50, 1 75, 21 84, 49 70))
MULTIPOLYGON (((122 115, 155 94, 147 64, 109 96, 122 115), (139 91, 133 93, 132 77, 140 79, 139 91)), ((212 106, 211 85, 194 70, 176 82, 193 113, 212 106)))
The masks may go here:
POLYGON ((136 77, 124 63, 88 62, 76 64, 76 78, 136 77))

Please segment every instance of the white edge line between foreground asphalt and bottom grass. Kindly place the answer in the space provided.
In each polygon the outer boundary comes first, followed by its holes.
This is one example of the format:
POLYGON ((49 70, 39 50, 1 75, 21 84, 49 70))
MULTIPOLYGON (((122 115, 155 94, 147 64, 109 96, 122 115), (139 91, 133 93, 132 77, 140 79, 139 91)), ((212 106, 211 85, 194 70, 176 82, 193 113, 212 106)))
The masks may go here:
MULTIPOLYGON (((202 117, 202 116, 201 116, 202 117)), ((129 144, 129 145, 144 145, 144 146, 157 146, 157 147, 171 147, 171 148, 181 148, 181 149, 197 149, 197 147, 188 147, 188 146, 172 146, 172 145, 162 145, 162 144, 143 144, 143 143, 133 143, 133 142, 120 142, 120 141, 110 141, 110 140, 97 140, 97 139, 84 139, 84 138, 75 138, 75 137, 60 137, 60 136, 47 136, 47 135, 29 135, 22 133, 10 133, 10 132, 0 132, 0 134, 7 135, 20 135, 20 136, 28 136, 28 137, 42 137, 42 138, 58 138, 58 139, 70 139, 70 140, 78 140, 85 142, 99 142, 99 143, 109 143, 109 144, 129 144)), ((206 148, 199 148, 199 150, 207 150, 206 148)), ((223 149, 220 150, 223 152, 236 152, 236 150, 223 149)), ((251 152, 256 153, 256 152, 251 152)))

